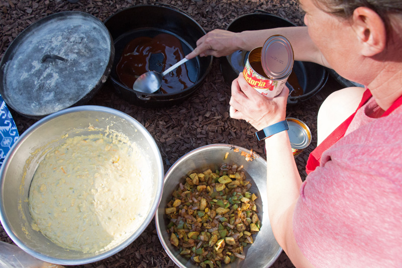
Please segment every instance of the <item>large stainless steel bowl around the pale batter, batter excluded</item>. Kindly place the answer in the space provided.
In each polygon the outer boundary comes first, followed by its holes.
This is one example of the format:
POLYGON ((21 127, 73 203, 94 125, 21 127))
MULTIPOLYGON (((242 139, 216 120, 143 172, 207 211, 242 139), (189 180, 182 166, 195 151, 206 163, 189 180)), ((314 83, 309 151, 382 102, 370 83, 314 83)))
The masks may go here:
MULTIPOLYGON (((103 133, 103 130, 95 132, 103 133)), ((96 134, 92 130, 90 134, 96 134)), ((163 188, 163 163, 160 151, 149 132, 127 114, 99 106, 80 106, 49 115, 32 125, 13 145, 0 169, 0 220, 10 238, 24 251, 47 262, 77 265, 109 257, 131 244, 151 222, 157 209, 163 188), (68 137, 88 134, 88 126, 95 129, 116 130, 135 142, 149 163, 152 189, 147 192, 150 206, 144 208, 145 216, 138 229, 127 230, 130 234, 113 248, 83 253, 68 250, 50 241, 31 227, 33 221, 28 194, 33 175, 46 150, 68 137)))

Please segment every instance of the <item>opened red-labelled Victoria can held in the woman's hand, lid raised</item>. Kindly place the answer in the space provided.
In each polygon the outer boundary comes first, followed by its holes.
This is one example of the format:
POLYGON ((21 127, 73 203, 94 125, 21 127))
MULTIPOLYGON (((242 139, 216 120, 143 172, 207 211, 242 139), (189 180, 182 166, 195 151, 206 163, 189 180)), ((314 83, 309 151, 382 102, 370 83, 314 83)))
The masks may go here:
POLYGON ((262 47, 250 51, 243 69, 246 81, 260 94, 273 98, 285 86, 293 67, 293 49, 281 35, 269 37, 262 47))

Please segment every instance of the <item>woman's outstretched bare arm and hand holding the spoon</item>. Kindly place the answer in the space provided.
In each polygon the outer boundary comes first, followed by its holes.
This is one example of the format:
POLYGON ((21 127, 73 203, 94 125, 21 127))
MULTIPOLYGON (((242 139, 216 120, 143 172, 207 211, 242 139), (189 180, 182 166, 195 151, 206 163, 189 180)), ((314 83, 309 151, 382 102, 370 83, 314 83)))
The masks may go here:
POLYGON ((233 33, 226 30, 214 30, 197 41, 197 47, 186 58, 197 55, 222 57, 236 50, 251 51, 264 44, 272 35, 283 35, 292 45, 294 60, 311 61, 330 67, 320 50, 310 39, 307 27, 284 27, 257 31, 233 33))

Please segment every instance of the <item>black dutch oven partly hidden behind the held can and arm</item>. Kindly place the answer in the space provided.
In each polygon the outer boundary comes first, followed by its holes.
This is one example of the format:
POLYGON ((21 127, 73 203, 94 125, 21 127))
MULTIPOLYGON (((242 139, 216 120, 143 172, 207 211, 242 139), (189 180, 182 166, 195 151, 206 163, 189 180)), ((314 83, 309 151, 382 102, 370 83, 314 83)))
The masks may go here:
MULTIPOLYGON (((278 16, 258 10, 236 18, 226 30, 238 33, 292 26, 296 25, 278 16)), ((221 70, 226 82, 231 84, 239 76, 239 73, 243 71, 247 56, 247 51, 237 51, 220 58, 221 70)), ((289 96, 287 98, 288 104, 296 104, 310 99, 321 90, 328 79, 326 68, 313 62, 294 61, 292 72, 296 74, 298 84, 303 88, 303 94, 294 97, 289 96)))

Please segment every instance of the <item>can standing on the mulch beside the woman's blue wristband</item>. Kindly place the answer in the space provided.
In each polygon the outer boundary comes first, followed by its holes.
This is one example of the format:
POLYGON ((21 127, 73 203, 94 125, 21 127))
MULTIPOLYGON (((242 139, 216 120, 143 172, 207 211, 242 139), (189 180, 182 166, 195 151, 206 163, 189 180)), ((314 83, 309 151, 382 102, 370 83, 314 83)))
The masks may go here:
POLYGON ((290 145, 292 146, 293 156, 296 157, 310 145, 311 131, 303 121, 296 118, 288 117, 286 121, 289 125, 287 134, 289 136, 290 145))

